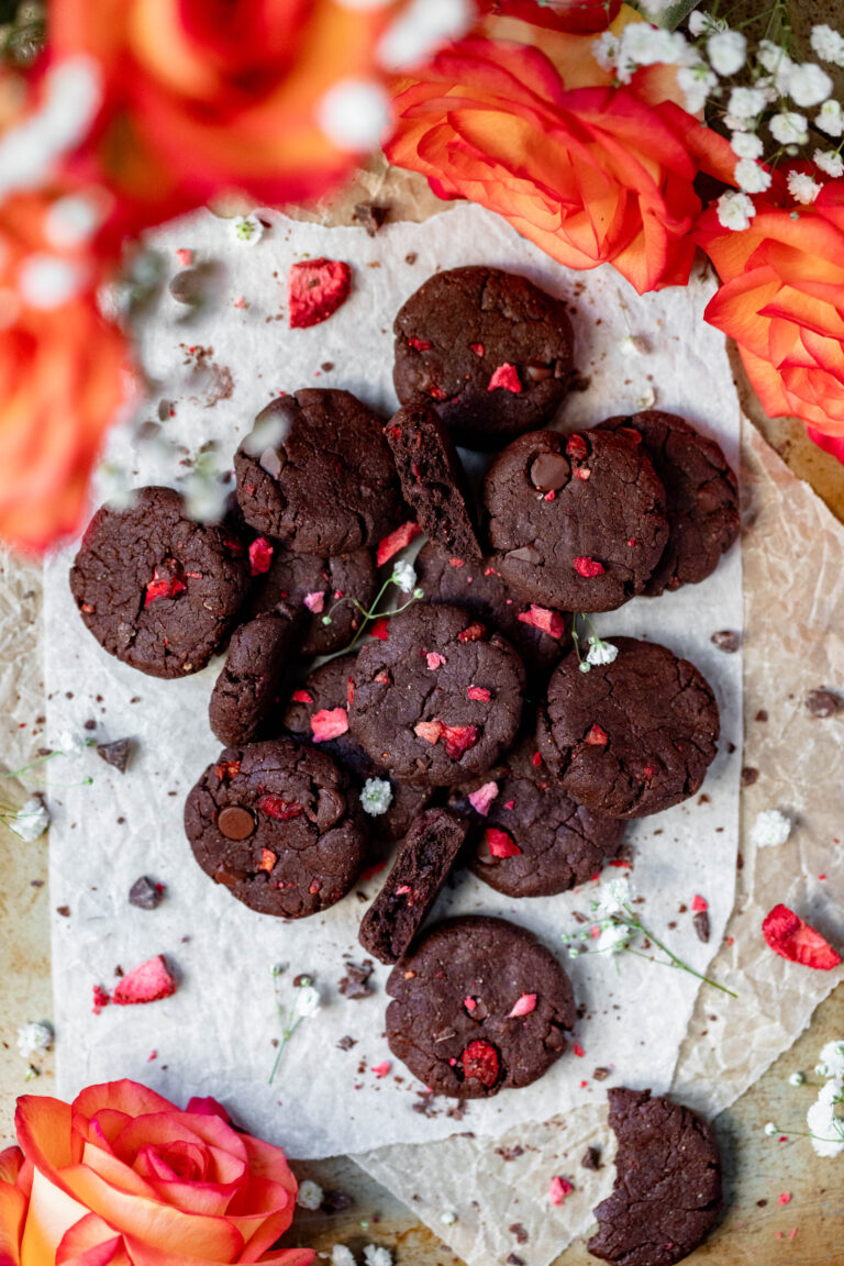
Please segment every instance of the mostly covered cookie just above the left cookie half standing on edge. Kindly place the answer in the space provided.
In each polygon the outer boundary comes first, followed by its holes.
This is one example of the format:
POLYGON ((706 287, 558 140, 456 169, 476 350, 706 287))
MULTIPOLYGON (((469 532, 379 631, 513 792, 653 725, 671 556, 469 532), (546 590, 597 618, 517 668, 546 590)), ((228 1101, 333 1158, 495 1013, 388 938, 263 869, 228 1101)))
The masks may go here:
POLYGON ((375 561, 368 549, 324 558, 294 553, 280 541, 273 541, 270 570, 258 577, 249 610, 257 615, 275 610, 278 603, 290 603, 301 613, 297 629, 300 652, 332 655, 347 646, 361 627, 354 604, 339 599, 357 598, 358 603, 368 606, 375 591, 375 561), (324 624, 329 611, 332 623, 324 624))

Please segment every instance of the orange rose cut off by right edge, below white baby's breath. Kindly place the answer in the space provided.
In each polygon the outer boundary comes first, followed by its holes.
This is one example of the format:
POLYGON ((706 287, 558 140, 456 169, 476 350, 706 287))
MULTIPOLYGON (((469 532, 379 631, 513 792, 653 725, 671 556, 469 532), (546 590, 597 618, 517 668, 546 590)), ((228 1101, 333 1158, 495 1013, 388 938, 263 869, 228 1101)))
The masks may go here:
POLYGON ((706 320, 739 344, 766 413, 844 438, 844 181, 828 181, 811 206, 754 201, 740 232, 716 208, 701 220, 697 241, 723 282, 706 320))

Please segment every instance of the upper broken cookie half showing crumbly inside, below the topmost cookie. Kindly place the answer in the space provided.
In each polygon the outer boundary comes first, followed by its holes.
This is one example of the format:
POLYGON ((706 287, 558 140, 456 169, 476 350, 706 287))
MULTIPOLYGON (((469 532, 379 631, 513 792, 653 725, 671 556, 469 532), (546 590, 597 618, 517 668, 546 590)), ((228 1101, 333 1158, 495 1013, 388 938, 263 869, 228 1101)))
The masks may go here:
POLYGON ((394 414, 383 433, 423 532, 457 558, 480 558, 466 476, 445 423, 424 401, 414 401, 394 414))

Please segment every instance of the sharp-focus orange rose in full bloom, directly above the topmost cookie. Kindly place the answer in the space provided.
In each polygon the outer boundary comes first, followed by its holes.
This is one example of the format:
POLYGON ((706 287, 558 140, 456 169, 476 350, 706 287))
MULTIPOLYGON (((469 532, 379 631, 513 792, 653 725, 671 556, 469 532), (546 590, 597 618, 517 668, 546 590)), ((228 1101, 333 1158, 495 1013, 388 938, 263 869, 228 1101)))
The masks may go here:
POLYGON ((692 181, 729 172, 735 156, 669 99, 673 73, 648 67, 616 89, 593 35, 510 18, 480 30, 495 38, 453 44, 397 85, 390 161, 440 197, 497 211, 569 268, 609 261, 640 294, 687 282, 692 181))

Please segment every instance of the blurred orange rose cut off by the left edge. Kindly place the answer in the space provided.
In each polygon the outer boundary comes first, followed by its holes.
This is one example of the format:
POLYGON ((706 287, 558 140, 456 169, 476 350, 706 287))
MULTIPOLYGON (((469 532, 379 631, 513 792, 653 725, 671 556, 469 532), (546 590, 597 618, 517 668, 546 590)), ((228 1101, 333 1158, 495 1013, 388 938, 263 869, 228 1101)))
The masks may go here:
POLYGON ((0 203, 0 537, 22 549, 80 525, 128 390, 125 341, 96 306, 95 219, 86 195, 0 203))

